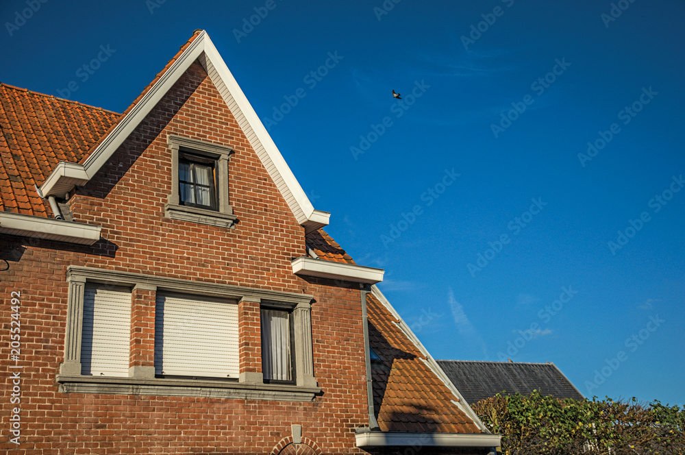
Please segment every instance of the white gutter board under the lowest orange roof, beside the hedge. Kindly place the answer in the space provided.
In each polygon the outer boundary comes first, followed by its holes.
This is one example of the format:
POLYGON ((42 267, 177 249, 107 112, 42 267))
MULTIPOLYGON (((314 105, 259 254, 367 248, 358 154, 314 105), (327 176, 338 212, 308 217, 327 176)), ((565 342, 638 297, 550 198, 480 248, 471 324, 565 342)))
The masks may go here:
POLYGON ((359 432, 357 447, 498 447, 499 434, 359 432))

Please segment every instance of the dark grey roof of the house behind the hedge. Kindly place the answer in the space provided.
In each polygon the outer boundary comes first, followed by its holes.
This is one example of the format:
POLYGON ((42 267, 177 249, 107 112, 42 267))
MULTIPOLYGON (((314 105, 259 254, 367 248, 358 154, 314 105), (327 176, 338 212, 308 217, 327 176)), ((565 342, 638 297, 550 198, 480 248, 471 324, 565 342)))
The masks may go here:
POLYGON ((438 365, 469 404, 502 391, 527 395, 536 390, 556 398, 584 399, 553 363, 438 360, 438 365))

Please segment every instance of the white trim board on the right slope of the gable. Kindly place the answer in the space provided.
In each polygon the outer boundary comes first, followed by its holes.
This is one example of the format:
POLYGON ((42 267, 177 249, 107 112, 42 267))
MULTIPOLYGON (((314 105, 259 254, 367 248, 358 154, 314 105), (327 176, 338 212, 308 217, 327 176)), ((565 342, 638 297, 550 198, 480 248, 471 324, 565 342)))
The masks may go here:
MULTIPOLYGON (((266 127, 264 127, 259 116, 247 100, 245 93, 238 86, 238 82, 233 77, 231 71, 229 71, 223 58, 221 58, 219 51, 214 47, 214 43, 205 32, 203 32, 203 38, 204 52, 208 64, 212 65, 220 79, 213 80, 212 82, 214 82, 215 86, 223 84, 227 88, 227 93, 223 90, 219 91, 222 92, 222 95, 225 97, 224 101, 226 101, 228 106, 231 106, 232 103, 231 99, 226 99, 227 96, 232 97, 232 100, 235 101, 240 111, 233 112, 236 120, 238 120, 242 129, 245 130, 245 135, 250 141, 252 148, 260 156, 262 164, 264 164, 266 170, 269 171, 269 175, 271 175, 271 178, 279 187, 281 193, 283 193, 284 199, 288 202, 292 213, 295 214, 297 222, 305 226, 310 225, 310 227, 318 225, 316 229, 328 225, 330 214, 314 210, 314 206, 312 206, 306 193, 299 182, 297 182, 295 175, 290 170, 290 167, 288 167, 288 163, 286 163, 278 147, 276 147, 269 132, 266 131, 266 127), (240 122, 239 117, 244 117, 245 122, 240 122)), ((209 68, 208 73, 212 73, 209 68)), ((314 229, 312 228, 311 230, 314 229)))

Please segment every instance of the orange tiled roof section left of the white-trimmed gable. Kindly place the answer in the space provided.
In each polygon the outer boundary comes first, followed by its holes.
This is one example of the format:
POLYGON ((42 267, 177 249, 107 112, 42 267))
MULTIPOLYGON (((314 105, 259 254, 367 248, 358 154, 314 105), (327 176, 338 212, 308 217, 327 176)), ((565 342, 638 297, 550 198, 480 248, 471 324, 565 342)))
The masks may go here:
POLYGON ((119 114, 0 84, 0 211, 50 217, 36 191, 58 162, 79 162, 119 114))

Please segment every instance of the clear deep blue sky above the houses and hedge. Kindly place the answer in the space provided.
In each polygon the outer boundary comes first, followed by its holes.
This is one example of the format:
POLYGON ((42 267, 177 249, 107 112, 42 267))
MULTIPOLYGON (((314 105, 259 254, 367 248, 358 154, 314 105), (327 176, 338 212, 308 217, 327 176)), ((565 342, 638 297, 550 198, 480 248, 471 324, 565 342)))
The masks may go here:
POLYGON ((395 1, 5 0, 0 81, 122 112, 206 29, 435 358, 685 404, 685 2, 395 1))

